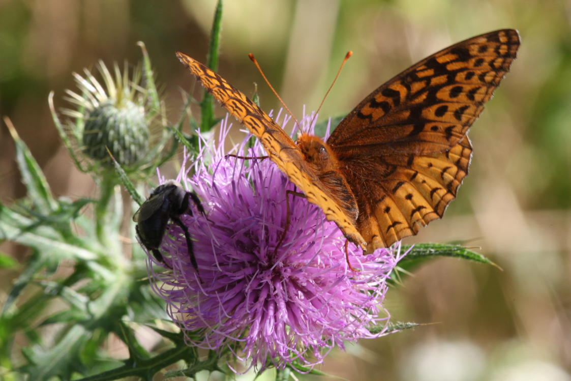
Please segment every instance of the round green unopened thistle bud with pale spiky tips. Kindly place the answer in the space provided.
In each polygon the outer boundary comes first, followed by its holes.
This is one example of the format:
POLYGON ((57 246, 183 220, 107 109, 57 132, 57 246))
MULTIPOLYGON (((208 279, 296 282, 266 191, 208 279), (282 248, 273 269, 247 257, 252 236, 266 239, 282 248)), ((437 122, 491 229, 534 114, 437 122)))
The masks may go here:
POLYGON ((127 66, 121 71, 115 64, 111 74, 99 62, 98 71, 101 82, 87 69, 84 75, 74 73, 79 91, 66 90, 66 100, 75 107, 62 110, 69 117, 64 123, 57 118, 50 98, 54 121, 80 170, 112 167, 111 153, 132 173, 154 159, 149 157, 150 125, 158 107, 148 101, 154 83, 146 89, 141 71, 135 69, 130 77, 127 66))

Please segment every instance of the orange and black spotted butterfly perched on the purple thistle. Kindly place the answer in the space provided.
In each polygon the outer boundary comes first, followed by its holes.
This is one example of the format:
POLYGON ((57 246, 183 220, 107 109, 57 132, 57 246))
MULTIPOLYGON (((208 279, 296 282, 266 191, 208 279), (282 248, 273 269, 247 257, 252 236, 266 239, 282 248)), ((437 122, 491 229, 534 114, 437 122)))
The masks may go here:
POLYGON ((468 129, 509 71, 517 30, 469 38, 415 63, 369 94, 324 142, 294 142, 202 63, 179 60, 252 134, 345 237, 372 252, 441 218, 468 174, 468 129))

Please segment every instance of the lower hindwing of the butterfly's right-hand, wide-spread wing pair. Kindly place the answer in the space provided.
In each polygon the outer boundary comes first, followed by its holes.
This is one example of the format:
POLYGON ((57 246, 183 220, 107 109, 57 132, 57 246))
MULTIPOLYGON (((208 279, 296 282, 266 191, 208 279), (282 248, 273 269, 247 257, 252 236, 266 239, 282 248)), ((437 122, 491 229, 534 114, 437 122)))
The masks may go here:
MULTIPOLYGON (((468 174, 471 154, 469 139, 464 137, 444 153, 401 160, 376 157, 377 162, 383 162, 376 167, 377 173, 389 174, 375 181, 363 180, 362 174, 359 178, 348 176, 351 187, 367 189, 358 192, 356 199, 360 212, 357 229, 371 243, 368 251, 415 235, 421 226, 441 218, 468 174)), ((374 166, 367 168, 375 171, 374 166)))

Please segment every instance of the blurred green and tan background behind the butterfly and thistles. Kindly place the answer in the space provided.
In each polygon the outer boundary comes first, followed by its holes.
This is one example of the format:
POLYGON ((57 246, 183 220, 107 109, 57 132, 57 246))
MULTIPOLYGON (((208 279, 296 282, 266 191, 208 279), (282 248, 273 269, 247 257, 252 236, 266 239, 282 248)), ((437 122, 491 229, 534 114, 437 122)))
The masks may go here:
MULTIPOLYGON (((180 90, 194 79, 174 51, 206 61, 214 6, 214 0, 0 0, 0 114, 13 121, 56 195, 95 190, 61 146, 49 91, 57 107, 67 106, 62 95, 75 88, 72 72, 93 69, 98 59, 136 63, 135 43, 143 41, 175 121, 180 90)), ((349 380, 571 380, 571 2, 240 0, 226 1, 222 25, 223 77, 250 96, 258 82, 263 109, 279 107, 247 57, 254 53, 297 117, 303 105, 319 105, 352 50, 321 119, 347 113, 381 83, 452 43, 500 28, 520 31, 518 58, 469 134, 471 174, 457 200, 443 220, 405 240, 467 241, 503 271, 454 259, 427 264, 389 292, 387 307, 396 320, 435 324, 349 345, 319 369, 349 380)), ((3 202, 23 195, 4 125, 0 180, 3 202)), ((26 259, 7 244, 2 250, 26 259)), ((17 271, 3 274, 2 299, 17 271)), ((124 355, 124 348, 109 349, 124 355)))

